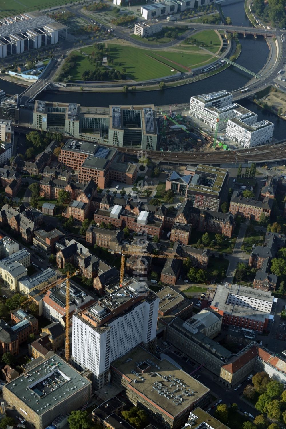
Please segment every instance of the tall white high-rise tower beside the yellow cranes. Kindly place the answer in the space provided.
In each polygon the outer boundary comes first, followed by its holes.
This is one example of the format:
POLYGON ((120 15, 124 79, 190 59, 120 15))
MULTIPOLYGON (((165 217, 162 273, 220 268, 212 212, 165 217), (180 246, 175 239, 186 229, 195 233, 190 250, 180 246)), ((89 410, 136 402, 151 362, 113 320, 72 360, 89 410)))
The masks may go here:
POLYGON ((95 388, 108 382, 109 365, 156 337, 159 298, 145 283, 132 282, 72 317, 72 357, 93 373, 95 388))

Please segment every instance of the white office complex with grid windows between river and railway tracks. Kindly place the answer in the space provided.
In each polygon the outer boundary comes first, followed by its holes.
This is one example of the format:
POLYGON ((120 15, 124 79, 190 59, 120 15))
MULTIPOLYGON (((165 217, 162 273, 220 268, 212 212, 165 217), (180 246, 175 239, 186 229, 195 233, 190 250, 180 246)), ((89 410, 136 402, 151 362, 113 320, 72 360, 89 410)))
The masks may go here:
POLYGON ((227 91, 191 97, 190 115, 217 132, 226 130, 226 137, 244 148, 270 143, 274 132, 274 124, 257 122, 257 115, 233 103, 227 91))

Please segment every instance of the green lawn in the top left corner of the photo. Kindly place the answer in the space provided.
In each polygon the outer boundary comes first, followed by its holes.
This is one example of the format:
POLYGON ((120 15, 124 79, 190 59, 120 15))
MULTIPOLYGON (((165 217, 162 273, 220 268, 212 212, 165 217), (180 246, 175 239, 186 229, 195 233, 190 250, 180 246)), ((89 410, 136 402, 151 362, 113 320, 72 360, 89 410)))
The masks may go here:
POLYGON ((18 15, 23 12, 48 9, 70 3, 70 0, 0 0, 0 17, 18 15))

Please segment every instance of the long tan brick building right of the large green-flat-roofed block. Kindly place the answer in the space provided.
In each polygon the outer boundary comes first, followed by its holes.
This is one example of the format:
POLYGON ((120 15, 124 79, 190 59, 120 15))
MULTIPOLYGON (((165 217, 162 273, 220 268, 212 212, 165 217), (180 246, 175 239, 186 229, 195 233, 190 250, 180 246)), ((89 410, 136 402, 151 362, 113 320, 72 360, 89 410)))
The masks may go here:
POLYGON ((269 217, 273 199, 264 198, 263 201, 257 199, 244 198, 239 196, 238 192, 234 192, 229 204, 229 213, 234 217, 236 215, 244 216, 246 219, 259 221, 262 213, 269 217))

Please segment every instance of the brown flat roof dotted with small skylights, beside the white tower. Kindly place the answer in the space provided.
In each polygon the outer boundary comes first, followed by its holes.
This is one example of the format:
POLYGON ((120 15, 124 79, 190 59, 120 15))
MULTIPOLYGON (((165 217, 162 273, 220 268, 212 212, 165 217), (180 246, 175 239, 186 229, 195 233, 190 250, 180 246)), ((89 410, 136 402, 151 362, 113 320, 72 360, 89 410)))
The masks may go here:
POLYGON ((141 347, 135 347, 110 366, 129 380, 132 390, 146 396, 172 417, 190 408, 210 391, 168 360, 159 360, 141 347))

